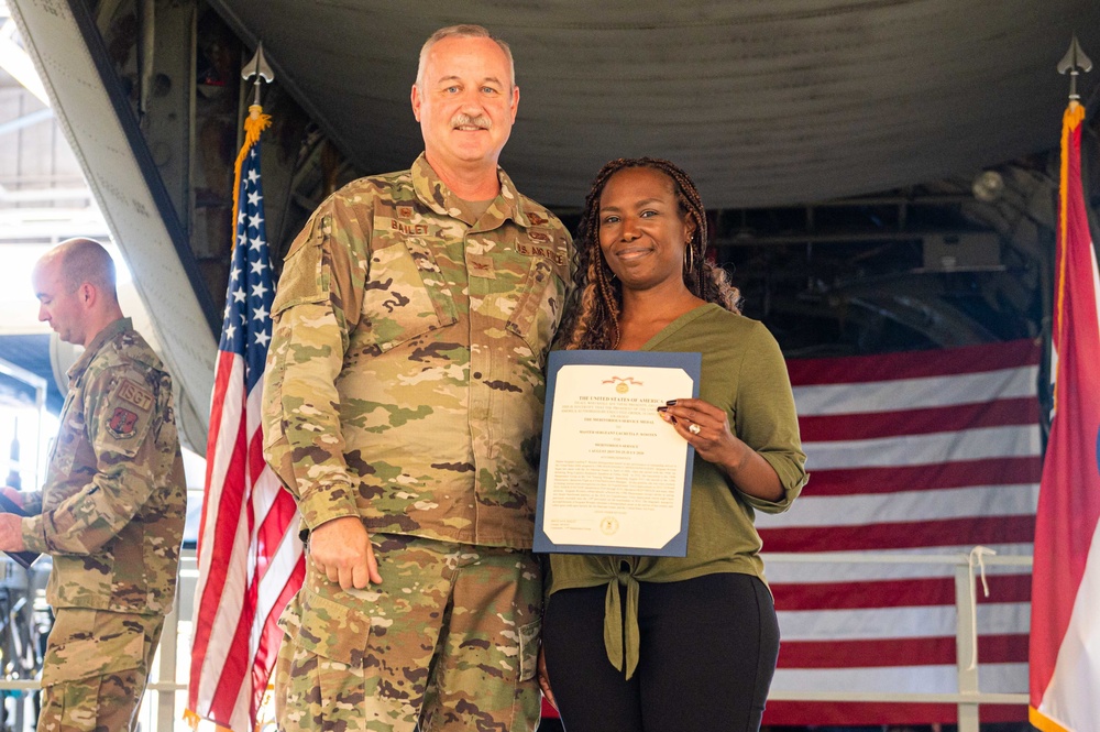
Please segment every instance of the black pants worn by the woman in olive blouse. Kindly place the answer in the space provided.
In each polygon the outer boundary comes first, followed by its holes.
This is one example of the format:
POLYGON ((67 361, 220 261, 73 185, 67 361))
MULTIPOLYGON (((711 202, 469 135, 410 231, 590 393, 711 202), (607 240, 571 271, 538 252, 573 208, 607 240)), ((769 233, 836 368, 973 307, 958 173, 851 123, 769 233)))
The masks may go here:
POLYGON ((565 732, 759 730, 779 655, 763 582, 730 572, 641 582, 629 681, 604 647, 606 591, 560 590, 544 610, 547 674, 565 732))

